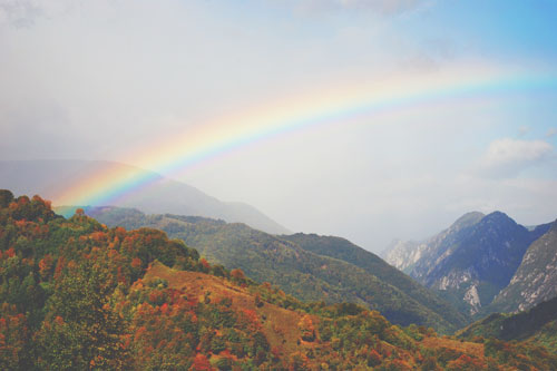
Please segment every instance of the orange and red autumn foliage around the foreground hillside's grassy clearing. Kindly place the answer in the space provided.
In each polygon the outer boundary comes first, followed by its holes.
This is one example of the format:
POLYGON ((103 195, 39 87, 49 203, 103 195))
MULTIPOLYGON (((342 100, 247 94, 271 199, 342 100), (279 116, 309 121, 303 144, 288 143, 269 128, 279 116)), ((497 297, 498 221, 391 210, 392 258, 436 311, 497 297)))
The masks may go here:
MULTIPOLYGON (((40 201, 33 197, 33 202, 40 201)), ((28 203, 29 199, 20 197, 9 207, 17 211, 28 203)), ((378 312, 328 316, 316 314, 319 311, 309 314, 304 305, 296 304, 294 307, 297 309, 292 310, 294 299, 289 297, 285 304, 286 301, 281 300, 287 297, 283 291, 273 289, 268 282, 252 285, 240 269, 231 271, 231 280, 223 279, 226 274, 217 276, 215 267, 213 274, 199 273, 211 272, 211 264, 205 258, 195 264, 197 254, 195 258, 182 254, 183 250, 176 248, 175 242, 158 231, 126 232, 121 227, 100 231, 96 222, 85 217, 82 209, 76 211, 78 217, 57 218, 56 223, 50 223, 47 214, 38 216, 35 211, 19 212, 18 215, 28 217, 27 221, 19 216, 19 219, 10 219, 18 237, 28 241, 39 236, 48 238, 50 230, 56 232, 60 226, 71 228, 68 235, 72 236, 61 243, 53 238, 43 250, 52 255, 45 255, 38 263, 40 255, 28 256, 27 253, 26 258, 14 260, 14 263, 26 269, 25 272, 38 272, 42 282, 53 283, 55 290, 63 289, 65 281, 52 282, 52 274, 56 280, 66 274, 78 274, 84 260, 102 271, 106 287, 115 287, 108 293, 111 296, 106 296, 110 300, 102 305, 102 313, 114 311, 126 319, 125 329, 118 334, 121 339, 118 346, 131 354, 135 364, 146 369, 160 369, 163 364, 184 369, 190 364, 190 370, 214 370, 208 358, 215 367, 233 370, 250 365, 281 370, 326 367, 338 370, 378 367, 390 370, 438 370, 441 367, 483 370, 488 362, 489 365, 497 362, 501 369, 519 364, 532 369, 530 359, 534 357, 528 354, 512 354, 514 363, 507 361, 516 345, 505 342, 492 345, 494 352, 501 355, 488 358, 483 344, 441 339, 430 332, 423 340, 402 338, 403 331, 391 328, 378 312), (175 264, 178 258, 188 258, 193 264, 188 264, 188 269, 184 265, 182 270, 169 267, 180 266, 175 264), (143 272, 141 267, 147 265, 149 269, 143 272), (248 290, 243 289, 247 286, 248 290), (206 297, 211 301, 199 304, 204 293, 209 293, 206 297)), ((3 238, 2 233, 0 231, 3 238)), ((56 238, 59 238, 58 234, 56 238)), ((8 241, 4 246, 14 243, 8 241)), ((0 258, 13 256, 14 247, 0 252, 0 258)), ((3 267, 6 263, 0 264, 3 267)), ((1 362, 6 354, 14 355, 14 361, 18 361, 21 345, 35 339, 26 328, 26 318, 11 313, 0 306, 0 368, 3 369, 18 369, 17 363, 6 368, 1 362)), ((71 330, 71 315, 52 312, 46 318, 41 328, 47 333, 50 328, 71 330)), ((420 332, 423 334, 426 330, 420 329, 420 332)), ((101 357, 88 359, 85 369, 100 369, 105 361, 101 357)))

